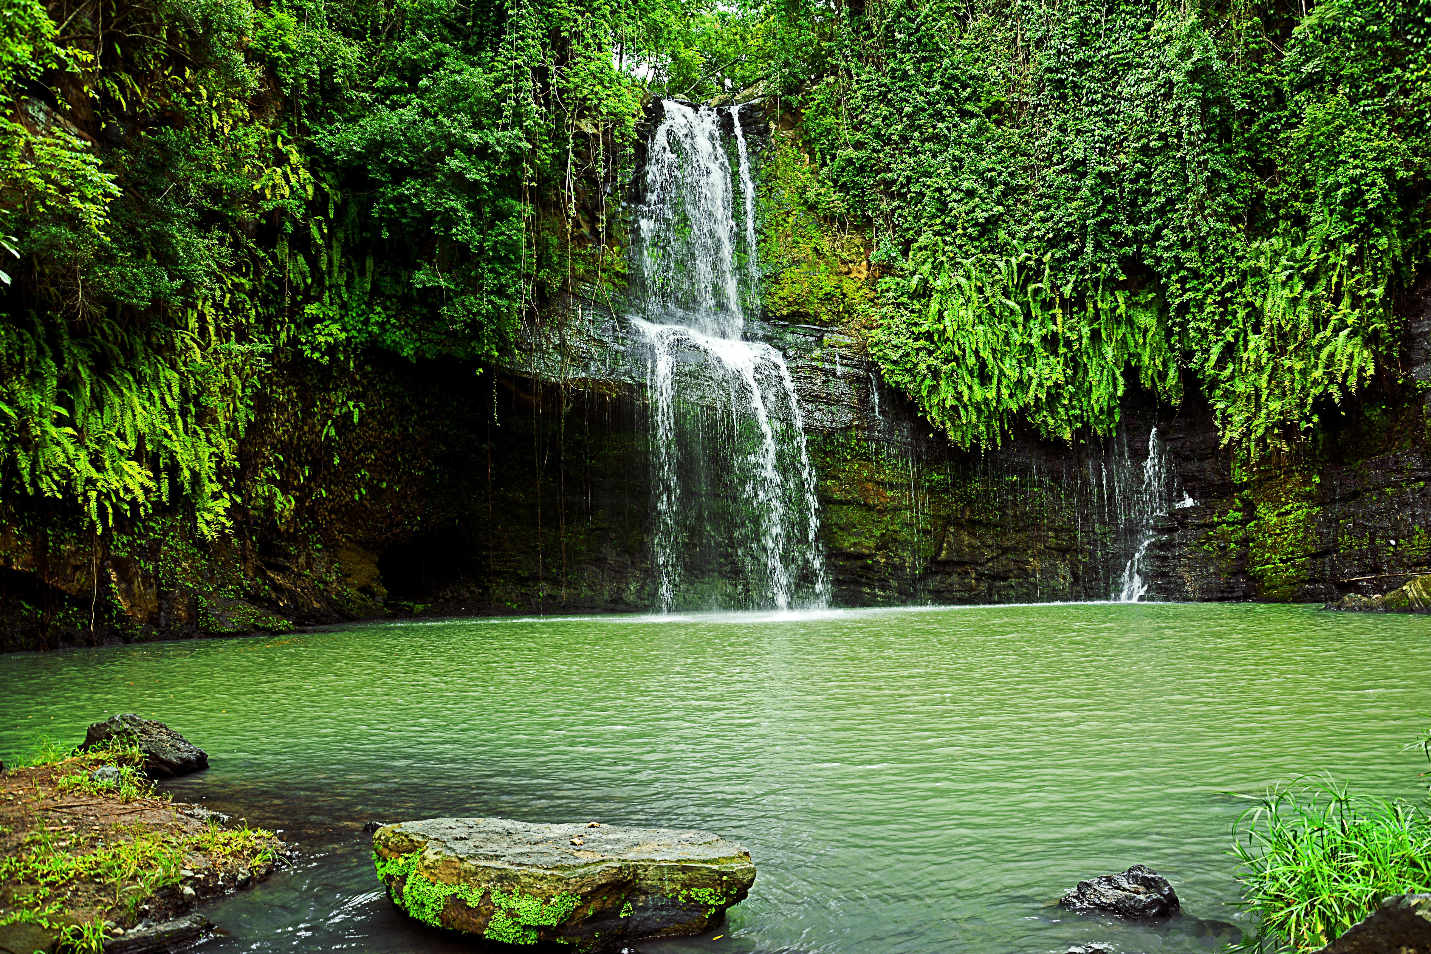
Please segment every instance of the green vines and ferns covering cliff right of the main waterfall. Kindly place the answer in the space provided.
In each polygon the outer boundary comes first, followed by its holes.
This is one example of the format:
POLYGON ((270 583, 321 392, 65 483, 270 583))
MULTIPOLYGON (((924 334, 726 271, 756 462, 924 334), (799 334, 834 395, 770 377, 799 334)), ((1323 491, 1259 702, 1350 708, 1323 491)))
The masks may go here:
POLYGON ((871 352, 957 442, 1106 432, 1133 380, 1172 403, 1186 380, 1255 452, 1397 368, 1431 225, 1424 3, 771 0, 744 21, 821 215, 874 239, 871 352))

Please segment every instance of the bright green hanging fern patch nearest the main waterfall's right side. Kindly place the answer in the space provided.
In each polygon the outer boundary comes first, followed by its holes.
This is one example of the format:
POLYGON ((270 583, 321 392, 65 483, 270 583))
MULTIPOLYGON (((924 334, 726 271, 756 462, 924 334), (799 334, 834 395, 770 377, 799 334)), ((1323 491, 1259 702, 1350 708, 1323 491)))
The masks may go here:
POLYGON ((1046 436, 1108 432, 1129 366, 1145 386, 1179 393, 1155 292, 1109 282, 1070 297, 1046 259, 1016 249, 950 260, 942 246, 926 233, 904 287, 884 283, 889 310, 870 350, 956 442, 997 443, 1020 415, 1046 436))

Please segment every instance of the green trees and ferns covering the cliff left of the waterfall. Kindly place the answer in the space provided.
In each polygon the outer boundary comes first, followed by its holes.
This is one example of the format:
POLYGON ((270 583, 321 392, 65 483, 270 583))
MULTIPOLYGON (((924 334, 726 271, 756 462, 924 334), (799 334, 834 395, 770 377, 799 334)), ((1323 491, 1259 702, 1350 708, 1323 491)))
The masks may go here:
POLYGON ((280 368, 491 358, 620 280, 607 196, 697 9, 6 0, 6 492, 285 519, 283 468, 240 473, 280 368))

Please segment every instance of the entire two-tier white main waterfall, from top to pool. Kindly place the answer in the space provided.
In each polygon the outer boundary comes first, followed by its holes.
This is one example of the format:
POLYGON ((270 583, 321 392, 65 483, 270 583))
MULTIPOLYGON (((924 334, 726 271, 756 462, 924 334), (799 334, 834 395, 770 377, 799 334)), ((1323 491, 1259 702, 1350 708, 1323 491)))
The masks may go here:
POLYGON ((794 382, 777 349, 741 340, 756 202, 740 107, 728 110, 740 232, 720 113, 673 100, 663 110, 631 283, 644 313, 633 325, 650 346, 657 602, 663 611, 823 605, 814 469, 794 382))

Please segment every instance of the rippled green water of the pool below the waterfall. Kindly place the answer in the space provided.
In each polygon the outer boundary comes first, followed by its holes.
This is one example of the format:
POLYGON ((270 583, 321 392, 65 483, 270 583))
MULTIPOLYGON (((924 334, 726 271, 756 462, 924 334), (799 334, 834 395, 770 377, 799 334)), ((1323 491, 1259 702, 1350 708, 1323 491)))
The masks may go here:
POLYGON ((445 814, 743 841, 750 900, 651 954, 1208 951, 1239 923, 1228 791, 1319 769, 1417 791, 1428 636, 1256 605, 371 625, 3 657, 0 754, 119 711, 206 748, 176 794, 301 851, 210 907, 212 951, 475 950, 392 910, 358 831, 445 814), (1133 862, 1185 917, 1052 907, 1133 862))

